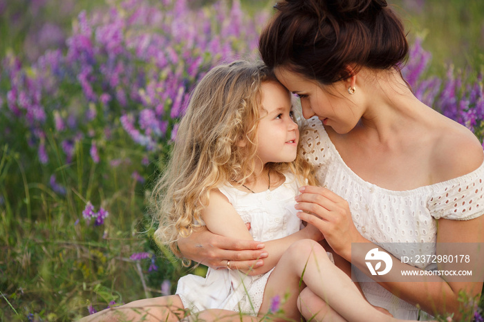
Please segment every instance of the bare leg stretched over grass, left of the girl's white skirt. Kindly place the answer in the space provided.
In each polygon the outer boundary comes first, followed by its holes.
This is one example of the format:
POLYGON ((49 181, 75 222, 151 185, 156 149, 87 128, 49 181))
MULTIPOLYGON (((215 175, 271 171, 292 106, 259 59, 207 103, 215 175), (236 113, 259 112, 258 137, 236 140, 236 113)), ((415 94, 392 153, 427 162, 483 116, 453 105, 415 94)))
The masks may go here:
POLYGON ((80 322, 94 321, 180 321, 185 317, 183 303, 178 295, 133 301, 118 307, 86 316, 80 322))

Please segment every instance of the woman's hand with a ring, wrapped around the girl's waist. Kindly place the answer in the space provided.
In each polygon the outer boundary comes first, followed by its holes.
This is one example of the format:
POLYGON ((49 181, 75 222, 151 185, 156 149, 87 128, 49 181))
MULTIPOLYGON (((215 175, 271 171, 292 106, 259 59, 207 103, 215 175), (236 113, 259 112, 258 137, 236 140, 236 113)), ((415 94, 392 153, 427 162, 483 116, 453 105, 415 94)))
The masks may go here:
POLYGON ((205 227, 180 238, 178 248, 185 258, 214 269, 227 269, 230 261, 231 269, 248 270, 262 266, 262 259, 268 256, 261 242, 212 234, 205 227))

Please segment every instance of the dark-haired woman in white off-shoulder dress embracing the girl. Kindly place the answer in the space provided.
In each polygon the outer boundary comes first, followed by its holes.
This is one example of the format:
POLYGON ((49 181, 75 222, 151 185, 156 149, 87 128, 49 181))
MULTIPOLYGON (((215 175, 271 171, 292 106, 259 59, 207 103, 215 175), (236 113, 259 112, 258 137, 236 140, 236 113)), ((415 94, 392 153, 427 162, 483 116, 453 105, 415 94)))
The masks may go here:
MULTIPOLYGON (((437 242, 483 243, 482 146, 464 126, 418 101, 402 79, 407 39, 386 1, 280 1, 275 8, 259 50, 311 119, 313 131, 301 133, 301 140, 326 186, 305 187, 297 197, 300 218, 360 270, 365 258, 351 256, 355 243, 368 250, 397 243, 387 251, 399 272, 431 268, 402 263, 402 243, 425 243, 422 255, 429 256, 447 252, 436 249, 437 242)), ((201 231, 178 246, 205 265, 243 269, 264 265, 266 256, 286 249, 284 243, 290 241, 264 249, 201 231)), ((416 305, 458 317, 459 292, 474 297, 483 287, 482 279, 373 283, 357 276, 366 299, 400 319, 416 319, 416 305)), ((306 317, 325 306, 310 291, 301 300, 306 317)))

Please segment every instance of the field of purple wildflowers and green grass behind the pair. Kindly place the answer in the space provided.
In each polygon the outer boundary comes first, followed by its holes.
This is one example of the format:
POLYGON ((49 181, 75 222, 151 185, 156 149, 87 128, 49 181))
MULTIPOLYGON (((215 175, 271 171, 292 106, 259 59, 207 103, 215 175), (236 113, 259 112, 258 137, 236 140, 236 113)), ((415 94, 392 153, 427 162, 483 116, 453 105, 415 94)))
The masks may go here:
MULTIPOLYGON (((72 321, 205 272, 156 245, 147 197, 196 82, 221 61, 256 58, 271 13, 238 0, 52 3, 0 0, 1 321, 72 321), (26 26, 24 7, 64 20, 26 26)), ((423 39, 404 77, 482 142, 483 68, 436 72, 423 39)))

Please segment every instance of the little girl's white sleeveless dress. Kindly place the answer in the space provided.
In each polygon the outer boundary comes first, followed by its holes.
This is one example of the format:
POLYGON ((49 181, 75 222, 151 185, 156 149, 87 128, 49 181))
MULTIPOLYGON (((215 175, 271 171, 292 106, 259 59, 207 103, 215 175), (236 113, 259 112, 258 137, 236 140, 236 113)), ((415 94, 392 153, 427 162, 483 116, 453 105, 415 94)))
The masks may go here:
MULTIPOLYGON (((243 221, 250 222, 254 240, 264 242, 289 236, 301 228, 294 207, 298 184, 294 175, 286 173, 286 181, 272 191, 246 193, 229 185, 218 189, 243 221)), ((218 308, 256 316, 271 272, 272 269, 266 274, 247 276, 238 270, 209 268, 205 278, 180 278, 176 294, 192 312, 218 308)))

